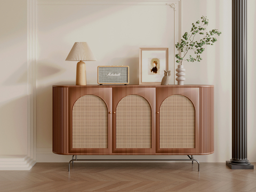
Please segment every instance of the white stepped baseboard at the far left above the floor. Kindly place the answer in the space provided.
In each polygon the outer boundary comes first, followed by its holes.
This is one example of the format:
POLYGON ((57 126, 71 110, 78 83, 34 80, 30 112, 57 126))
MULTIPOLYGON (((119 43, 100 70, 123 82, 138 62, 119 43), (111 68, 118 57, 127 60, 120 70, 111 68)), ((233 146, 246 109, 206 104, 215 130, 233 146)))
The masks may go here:
POLYGON ((0 170, 30 170, 36 161, 27 155, 0 155, 0 170))

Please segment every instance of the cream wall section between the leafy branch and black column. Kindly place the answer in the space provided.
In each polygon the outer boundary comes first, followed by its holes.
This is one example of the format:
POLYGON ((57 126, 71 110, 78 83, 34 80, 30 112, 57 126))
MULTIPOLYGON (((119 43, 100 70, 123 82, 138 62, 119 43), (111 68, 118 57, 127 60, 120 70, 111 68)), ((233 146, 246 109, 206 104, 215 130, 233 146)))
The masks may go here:
POLYGON ((231 158, 231 1, 182 0, 182 32, 202 15, 209 19, 208 31, 219 29, 222 34, 214 46, 206 47, 201 62, 185 63, 186 83, 215 86, 215 152, 196 158, 225 162, 231 158))

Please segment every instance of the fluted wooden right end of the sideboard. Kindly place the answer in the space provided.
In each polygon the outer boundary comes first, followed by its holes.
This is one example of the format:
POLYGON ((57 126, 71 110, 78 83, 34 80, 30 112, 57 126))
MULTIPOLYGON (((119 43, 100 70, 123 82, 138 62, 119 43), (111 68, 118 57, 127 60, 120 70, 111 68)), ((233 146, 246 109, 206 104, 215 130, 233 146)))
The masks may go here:
POLYGON ((214 87, 200 88, 200 143, 202 154, 214 151, 214 87))

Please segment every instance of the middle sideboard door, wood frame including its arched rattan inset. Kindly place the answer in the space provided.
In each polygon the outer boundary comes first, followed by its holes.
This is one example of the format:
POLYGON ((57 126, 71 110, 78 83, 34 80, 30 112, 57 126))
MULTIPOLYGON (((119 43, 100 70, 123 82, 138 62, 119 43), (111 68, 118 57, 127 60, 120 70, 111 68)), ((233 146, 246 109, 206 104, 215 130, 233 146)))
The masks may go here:
POLYGON ((155 89, 121 87, 113 92, 113 153, 155 153, 155 89))

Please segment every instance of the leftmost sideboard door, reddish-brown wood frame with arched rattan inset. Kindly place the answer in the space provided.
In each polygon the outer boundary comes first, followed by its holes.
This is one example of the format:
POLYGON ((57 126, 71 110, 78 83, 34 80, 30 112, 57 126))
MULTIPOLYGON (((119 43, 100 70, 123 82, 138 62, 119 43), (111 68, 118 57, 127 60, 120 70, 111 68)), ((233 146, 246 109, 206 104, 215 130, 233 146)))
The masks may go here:
POLYGON ((70 94, 69 151, 71 154, 111 153, 112 89, 75 87, 70 94))

